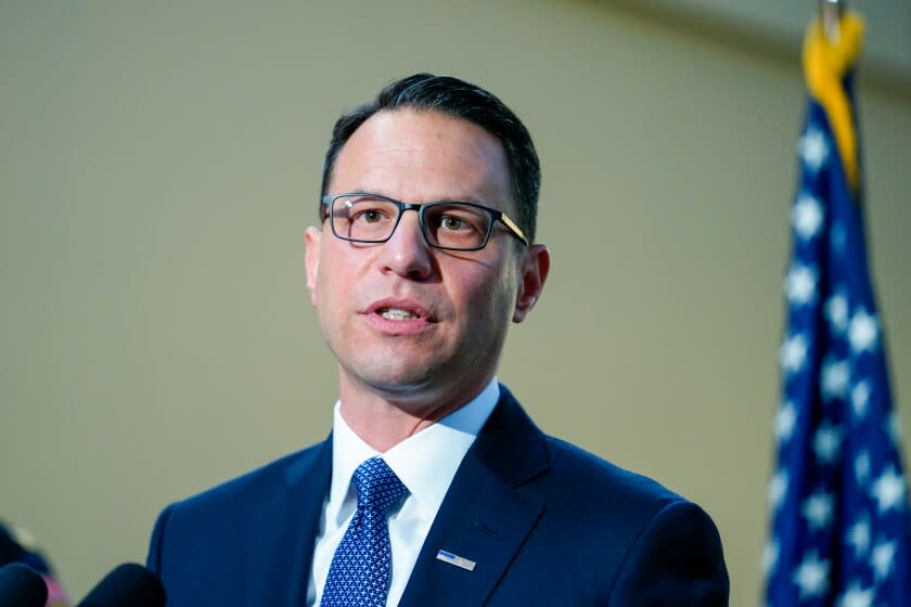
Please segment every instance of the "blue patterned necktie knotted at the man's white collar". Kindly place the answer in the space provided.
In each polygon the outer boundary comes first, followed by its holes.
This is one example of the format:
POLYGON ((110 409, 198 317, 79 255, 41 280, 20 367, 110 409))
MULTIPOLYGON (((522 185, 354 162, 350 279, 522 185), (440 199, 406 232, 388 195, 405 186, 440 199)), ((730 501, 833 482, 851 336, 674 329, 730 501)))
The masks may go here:
POLYGON ((384 607, 389 591, 389 527, 386 515, 408 492, 380 457, 355 470, 358 509, 329 566, 321 607, 384 607))

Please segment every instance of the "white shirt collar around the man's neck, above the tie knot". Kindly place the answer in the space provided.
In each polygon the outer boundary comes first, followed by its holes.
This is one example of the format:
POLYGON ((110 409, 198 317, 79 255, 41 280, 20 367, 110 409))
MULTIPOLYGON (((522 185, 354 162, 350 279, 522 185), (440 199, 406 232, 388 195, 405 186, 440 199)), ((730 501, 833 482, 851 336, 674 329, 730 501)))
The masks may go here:
MULTIPOLYGON (((435 514, 439 509, 462 459, 499 399, 500 385, 495 377, 465 405, 382 454, 414 498, 420 512, 435 514)), ((341 401, 335 403, 333 413, 332 485, 326 507, 330 519, 339 516, 346 501, 356 504, 351 476, 364 461, 380 455, 348 426, 339 404, 341 401)))

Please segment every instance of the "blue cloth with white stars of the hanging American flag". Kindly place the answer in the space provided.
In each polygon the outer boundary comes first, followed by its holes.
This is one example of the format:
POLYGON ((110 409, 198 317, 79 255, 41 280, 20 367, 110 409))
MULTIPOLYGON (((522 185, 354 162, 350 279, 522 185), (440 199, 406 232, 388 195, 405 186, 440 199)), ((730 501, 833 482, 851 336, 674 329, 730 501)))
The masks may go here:
MULTIPOLYGON (((850 83, 842 81, 843 99, 856 125, 850 83)), ((868 271, 860 190, 848 177, 824 105, 811 94, 797 146, 787 324, 779 351, 782 399, 774 417, 778 461, 762 556, 766 603, 911 605, 900 426, 868 271)))

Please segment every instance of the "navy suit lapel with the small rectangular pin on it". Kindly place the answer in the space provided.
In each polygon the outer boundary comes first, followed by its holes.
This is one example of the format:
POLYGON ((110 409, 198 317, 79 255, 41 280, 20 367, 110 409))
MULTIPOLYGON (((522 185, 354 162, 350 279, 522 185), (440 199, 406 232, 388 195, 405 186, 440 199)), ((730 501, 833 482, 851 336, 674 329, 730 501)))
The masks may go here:
POLYGON ((500 389, 500 402, 431 527, 400 607, 483 605, 544 511, 516 490, 548 467, 543 435, 500 389), (439 551, 474 561, 474 569, 438 559, 439 551))

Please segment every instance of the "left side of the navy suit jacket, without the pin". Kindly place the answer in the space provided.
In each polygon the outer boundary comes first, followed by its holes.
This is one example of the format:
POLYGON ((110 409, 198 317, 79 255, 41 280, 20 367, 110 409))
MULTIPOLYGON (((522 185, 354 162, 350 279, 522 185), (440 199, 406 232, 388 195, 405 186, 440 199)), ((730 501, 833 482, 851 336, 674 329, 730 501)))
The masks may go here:
POLYGON ((291 605, 301 596, 306 578, 295 573, 309 570, 331 451, 325 441, 165 508, 146 567, 168 605, 291 605))

